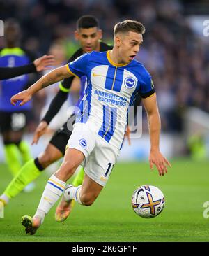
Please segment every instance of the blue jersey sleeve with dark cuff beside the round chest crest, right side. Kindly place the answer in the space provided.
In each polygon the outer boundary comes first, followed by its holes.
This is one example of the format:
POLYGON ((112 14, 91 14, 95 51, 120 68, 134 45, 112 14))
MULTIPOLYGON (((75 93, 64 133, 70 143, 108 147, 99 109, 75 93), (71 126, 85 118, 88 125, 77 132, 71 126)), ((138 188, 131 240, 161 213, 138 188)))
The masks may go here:
POLYGON ((139 88, 139 94, 141 98, 145 99, 150 97, 154 93, 155 93, 155 87, 153 84, 153 80, 150 74, 148 73, 147 76, 145 76, 141 82, 141 86, 139 88))

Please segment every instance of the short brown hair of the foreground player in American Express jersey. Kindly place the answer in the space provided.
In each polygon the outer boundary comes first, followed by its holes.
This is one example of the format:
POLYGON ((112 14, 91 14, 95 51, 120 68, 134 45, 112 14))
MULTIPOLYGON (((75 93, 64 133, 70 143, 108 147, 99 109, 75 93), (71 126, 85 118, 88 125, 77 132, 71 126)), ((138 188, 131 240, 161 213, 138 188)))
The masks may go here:
POLYGON ((144 34, 145 27, 141 22, 138 22, 137 20, 123 20, 123 22, 118 22, 114 26, 114 36, 116 36, 118 32, 127 33, 129 31, 144 34))

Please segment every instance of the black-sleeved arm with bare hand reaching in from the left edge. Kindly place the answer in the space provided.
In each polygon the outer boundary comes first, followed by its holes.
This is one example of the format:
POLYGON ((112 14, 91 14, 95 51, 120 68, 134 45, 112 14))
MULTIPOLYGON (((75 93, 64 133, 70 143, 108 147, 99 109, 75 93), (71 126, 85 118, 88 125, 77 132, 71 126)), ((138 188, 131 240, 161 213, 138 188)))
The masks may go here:
POLYGON ((49 66, 52 66, 53 64, 54 56, 43 55, 28 65, 17 66, 13 68, 0 67, 0 80, 14 78, 15 76, 21 76, 26 73, 40 72, 46 69, 51 69, 49 66))

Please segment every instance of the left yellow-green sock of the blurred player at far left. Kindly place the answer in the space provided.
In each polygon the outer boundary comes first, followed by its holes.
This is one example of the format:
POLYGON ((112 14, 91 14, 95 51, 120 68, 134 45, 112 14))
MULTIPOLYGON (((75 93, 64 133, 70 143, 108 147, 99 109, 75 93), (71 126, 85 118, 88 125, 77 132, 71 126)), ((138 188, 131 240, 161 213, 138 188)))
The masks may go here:
POLYGON ((4 152, 5 152, 5 158, 6 158, 6 163, 8 164, 8 167, 15 176, 18 171, 20 171, 21 168, 21 156, 20 156, 20 151, 17 148, 17 145, 10 143, 4 145, 4 152))

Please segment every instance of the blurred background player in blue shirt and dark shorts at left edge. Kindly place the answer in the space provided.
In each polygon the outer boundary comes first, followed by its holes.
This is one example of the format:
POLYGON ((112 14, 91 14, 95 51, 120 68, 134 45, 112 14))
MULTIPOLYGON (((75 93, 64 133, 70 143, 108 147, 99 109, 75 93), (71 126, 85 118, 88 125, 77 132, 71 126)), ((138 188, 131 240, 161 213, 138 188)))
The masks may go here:
MULTIPOLYGON (((31 62, 31 54, 19 47, 20 26, 16 20, 10 19, 5 22, 5 43, 6 48, 0 51, 1 67, 22 66, 31 62)), ((20 170, 22 164, 31 159, 29 145, 22 140, 31 113, 31 103, 26 104, 24 108, 13 107, 10 105, 10 97, 24 90, 28 83, 27 75, 1 80, 0 129, 6 163, 13 176, 20 170)))

